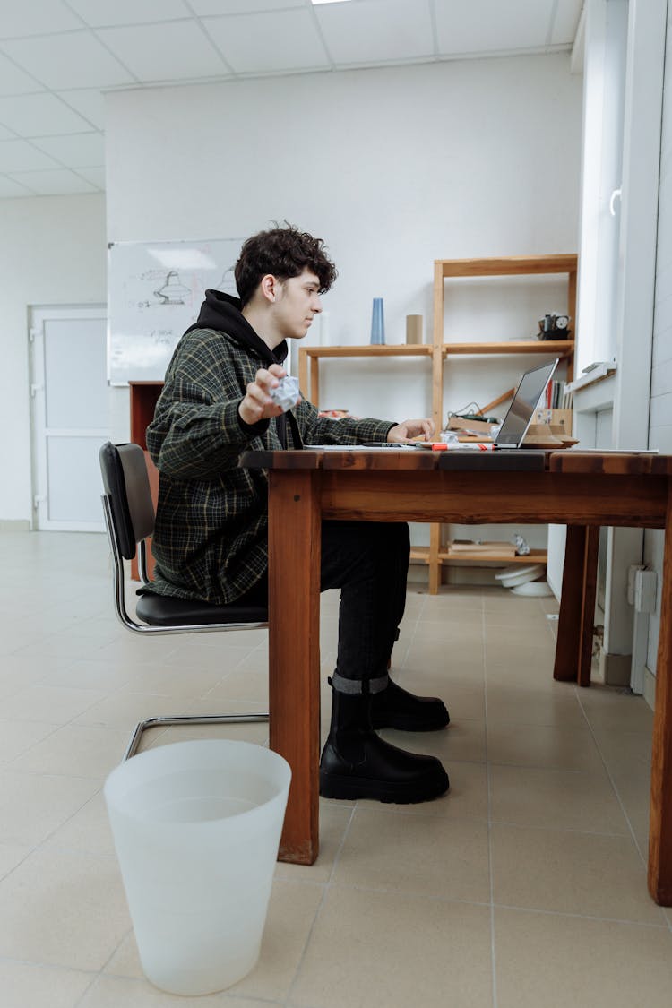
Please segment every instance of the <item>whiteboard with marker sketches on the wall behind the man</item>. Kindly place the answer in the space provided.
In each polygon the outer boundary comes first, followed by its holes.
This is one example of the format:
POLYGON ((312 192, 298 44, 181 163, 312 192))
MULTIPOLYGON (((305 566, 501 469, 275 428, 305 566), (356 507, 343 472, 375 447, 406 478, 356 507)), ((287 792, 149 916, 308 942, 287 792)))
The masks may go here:
POLYGON ((237 295, 242 238, 111 242, 108 246, 108 381, 162 381, 209 288, 237 295))

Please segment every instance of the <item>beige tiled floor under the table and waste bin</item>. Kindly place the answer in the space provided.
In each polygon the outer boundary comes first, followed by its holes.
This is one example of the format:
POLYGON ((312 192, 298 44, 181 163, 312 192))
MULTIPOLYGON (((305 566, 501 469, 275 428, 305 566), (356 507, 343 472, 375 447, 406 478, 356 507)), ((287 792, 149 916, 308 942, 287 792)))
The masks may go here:
POLYGON ((257 968, 177 999, 143 978, 101 786, 140 716, 263 708, 266 635, 129 634, 100 535, 4 533, 0 556, 2 1008, 669 1008, 672 912, 645 871, 652 715, 553 682, 553 600, 409 592, 394 673, 452 724, 387 734, 440 756, 450 793, 322 803, 316 864, 278 865, 257 968))

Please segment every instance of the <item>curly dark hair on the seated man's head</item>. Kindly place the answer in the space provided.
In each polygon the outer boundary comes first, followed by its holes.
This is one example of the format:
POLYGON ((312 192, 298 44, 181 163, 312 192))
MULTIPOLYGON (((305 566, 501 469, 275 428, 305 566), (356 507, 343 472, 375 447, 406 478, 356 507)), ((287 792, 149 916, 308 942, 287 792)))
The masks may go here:
POLYGON ((319 293, 325 293, 337 278, 337 268, 325 255, 321 238, 313 238, 285 221, 269 231, 260 231, 243 244, 236 263, 236 286, 243 306, 252 300, 261 278, 271 273, 279 280, 298 276, 306 268, 319 279, 319 293))

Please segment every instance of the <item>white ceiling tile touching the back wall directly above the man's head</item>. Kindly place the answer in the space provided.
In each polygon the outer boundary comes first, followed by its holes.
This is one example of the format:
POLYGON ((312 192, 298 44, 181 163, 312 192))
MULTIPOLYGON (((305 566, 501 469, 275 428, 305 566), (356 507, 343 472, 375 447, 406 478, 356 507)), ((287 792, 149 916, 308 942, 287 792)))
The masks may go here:
POLYGON ((204 24, 239 74, 328 67, 308 10, 206 18, 204 24))

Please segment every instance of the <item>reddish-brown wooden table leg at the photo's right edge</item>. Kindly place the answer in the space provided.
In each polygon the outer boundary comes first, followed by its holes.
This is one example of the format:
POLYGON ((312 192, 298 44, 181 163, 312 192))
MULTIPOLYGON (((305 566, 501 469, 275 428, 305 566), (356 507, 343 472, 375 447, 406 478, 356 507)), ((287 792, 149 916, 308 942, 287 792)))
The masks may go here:
POLYGON ((661 906, 672 906, 672 489, 668 494, 649 821, 649 892, 661 906))

